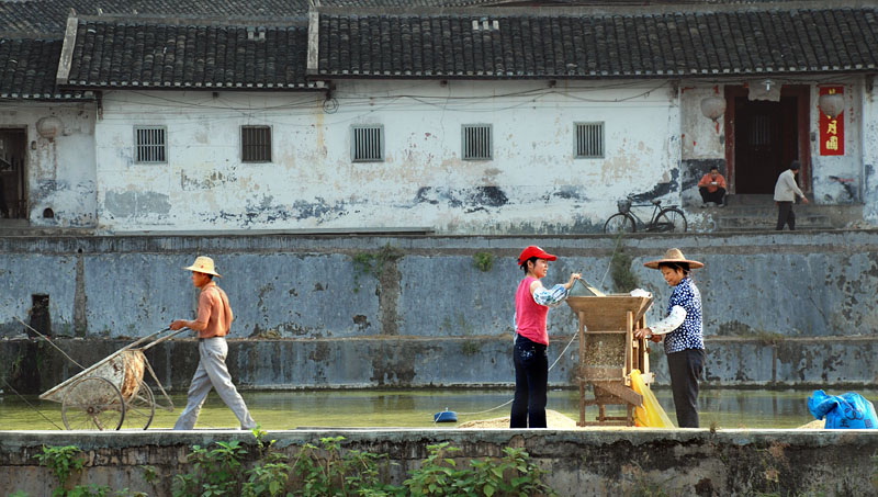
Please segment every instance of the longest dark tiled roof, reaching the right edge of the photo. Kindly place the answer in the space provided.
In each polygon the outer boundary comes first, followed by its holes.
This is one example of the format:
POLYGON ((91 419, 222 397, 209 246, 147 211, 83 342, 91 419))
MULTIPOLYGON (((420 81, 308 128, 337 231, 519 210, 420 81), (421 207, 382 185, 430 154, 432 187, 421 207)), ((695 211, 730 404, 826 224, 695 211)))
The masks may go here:
POLYGON ((319 13, 324 77, 611 78, 875 71, 878 7, 319 13))

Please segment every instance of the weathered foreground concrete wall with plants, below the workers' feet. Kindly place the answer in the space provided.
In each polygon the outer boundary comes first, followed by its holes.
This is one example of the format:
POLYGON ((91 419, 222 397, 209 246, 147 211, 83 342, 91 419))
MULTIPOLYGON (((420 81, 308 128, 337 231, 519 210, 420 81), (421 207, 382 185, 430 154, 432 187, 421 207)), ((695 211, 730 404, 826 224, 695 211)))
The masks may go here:
MULTIPOLYGON (((389 454, 398 464, 392 466, 396 484, 427 445, 448 441, 462 449, 460 463, 525 448, 551 471, 548 482, 562 496, 878 495, 878 430, 302 430, 269 439, 292 455, 338 434, 344 450, 389 454)), ((85 451, 87 467, 71 484, 170 495, 172 475, 189 471, 189 448, 229 440, 254 443, 251 434, 229 431, 0 432, 0 488, 49 495, 55 481, 34 455, 43 445, 74 444, 85 451), (145 465, 158 470, 157 485, 145 482, 145 465)))

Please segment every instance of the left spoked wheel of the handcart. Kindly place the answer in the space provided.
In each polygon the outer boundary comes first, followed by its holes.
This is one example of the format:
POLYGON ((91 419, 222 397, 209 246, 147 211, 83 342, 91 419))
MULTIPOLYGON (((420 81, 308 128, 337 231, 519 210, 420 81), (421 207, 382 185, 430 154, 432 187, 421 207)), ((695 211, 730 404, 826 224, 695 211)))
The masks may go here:
POLYGON ((61 419, 68 430, 117 430, 125 419, 125 402, 110 380, 83 377, 64 395, 61 419))

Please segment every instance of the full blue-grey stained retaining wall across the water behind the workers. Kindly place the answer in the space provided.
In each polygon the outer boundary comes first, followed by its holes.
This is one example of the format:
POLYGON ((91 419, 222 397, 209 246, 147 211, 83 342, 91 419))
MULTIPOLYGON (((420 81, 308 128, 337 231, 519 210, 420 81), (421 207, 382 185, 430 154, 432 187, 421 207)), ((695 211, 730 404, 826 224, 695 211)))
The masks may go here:
MULTIPOLYGON (((581 271, 612 290, 607 275, 612 255, 631 257, 623 269, 656 295, 648 320, 660 318, 671 289, 642 262, 669 247, 705 261, 695 279, 703 300, 709 382, 876 381, 857 364, 868 363, 878 347, 878 307, 873 305, 878 231, 622 240, 277 234, 3 238, 0 334, 21 335, 15 318, 33 318, 34 303, 47 296, 43 321, 54 335, 87 339, 81 346, 64 343, 71 357, 91 363, 171 319, 192 317, 196 294, 181 268, 205 253, 224 275, 219 282, 236 314, 233 337, 257 339, 233 346, 232 368, 244 386, 506 383, 511 379, 511 294, 521 278, 515 260, 534 242, 561 257, 547 283, 581 271), (475 267, 475 256, 483 253, 494 258, 486 271, 475 267), (363 269, 358 260, 373 266, 363 269), (101 342, 114 338, 119 341, 101 342)), ((566 306, 553 309, 549 327, 558 354, 576 330, 573 313, 566 306)), ((46 353, 27 355, 23 342, 0 344, 3 377, 38 372, 50 382, 41 385, 46 387, 68 373, 65 361, 54 361, 45 346, 46 353)), ((661 371, 657 349, 653 364, 661 371)), ((150 361, 162 381, 177 387, 194 369, 194 350, 189 344, 157 348, 150 361)), ((569 380, 575 359, 567 359, 553 371, 553 382, 569 380)))

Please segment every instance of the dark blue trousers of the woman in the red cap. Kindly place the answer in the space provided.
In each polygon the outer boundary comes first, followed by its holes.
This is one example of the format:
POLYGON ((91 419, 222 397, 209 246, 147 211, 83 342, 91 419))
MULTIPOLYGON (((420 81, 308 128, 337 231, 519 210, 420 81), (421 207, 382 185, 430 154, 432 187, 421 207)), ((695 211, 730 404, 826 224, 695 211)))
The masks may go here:
POLYGON ((545 346, 517 335, 513 362, 515 399, 509 428, 545 428, 545 391, 549 386, 545 346))

